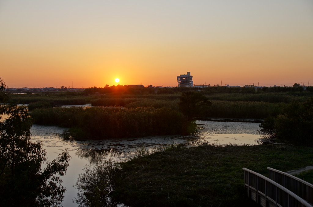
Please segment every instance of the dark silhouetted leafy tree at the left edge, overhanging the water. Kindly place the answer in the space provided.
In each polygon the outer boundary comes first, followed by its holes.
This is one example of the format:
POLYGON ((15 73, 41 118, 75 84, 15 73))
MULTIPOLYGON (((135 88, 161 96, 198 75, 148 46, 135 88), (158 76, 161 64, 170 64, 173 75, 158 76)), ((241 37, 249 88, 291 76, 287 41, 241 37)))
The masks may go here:
MULTIPOLYGON (((4 87, 0 77, 2 103, 4 87)), ((64 198, 60 176, 69 166, 69 153, 47 161, 42 144, 30 141, 31 126, 26 107, 0 105, 0 206, 59 206, 64 198)))

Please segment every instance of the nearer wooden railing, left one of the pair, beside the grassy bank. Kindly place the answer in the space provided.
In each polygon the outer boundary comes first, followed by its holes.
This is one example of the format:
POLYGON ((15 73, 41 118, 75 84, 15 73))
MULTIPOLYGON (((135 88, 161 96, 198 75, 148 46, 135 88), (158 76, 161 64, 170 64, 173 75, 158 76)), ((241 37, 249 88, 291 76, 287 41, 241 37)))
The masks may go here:
POLYGON ((264 207, 312 207, 304 199, 275 181, 247 168, 243 168, 243 170, 246 193, 259 205, 264 207))

